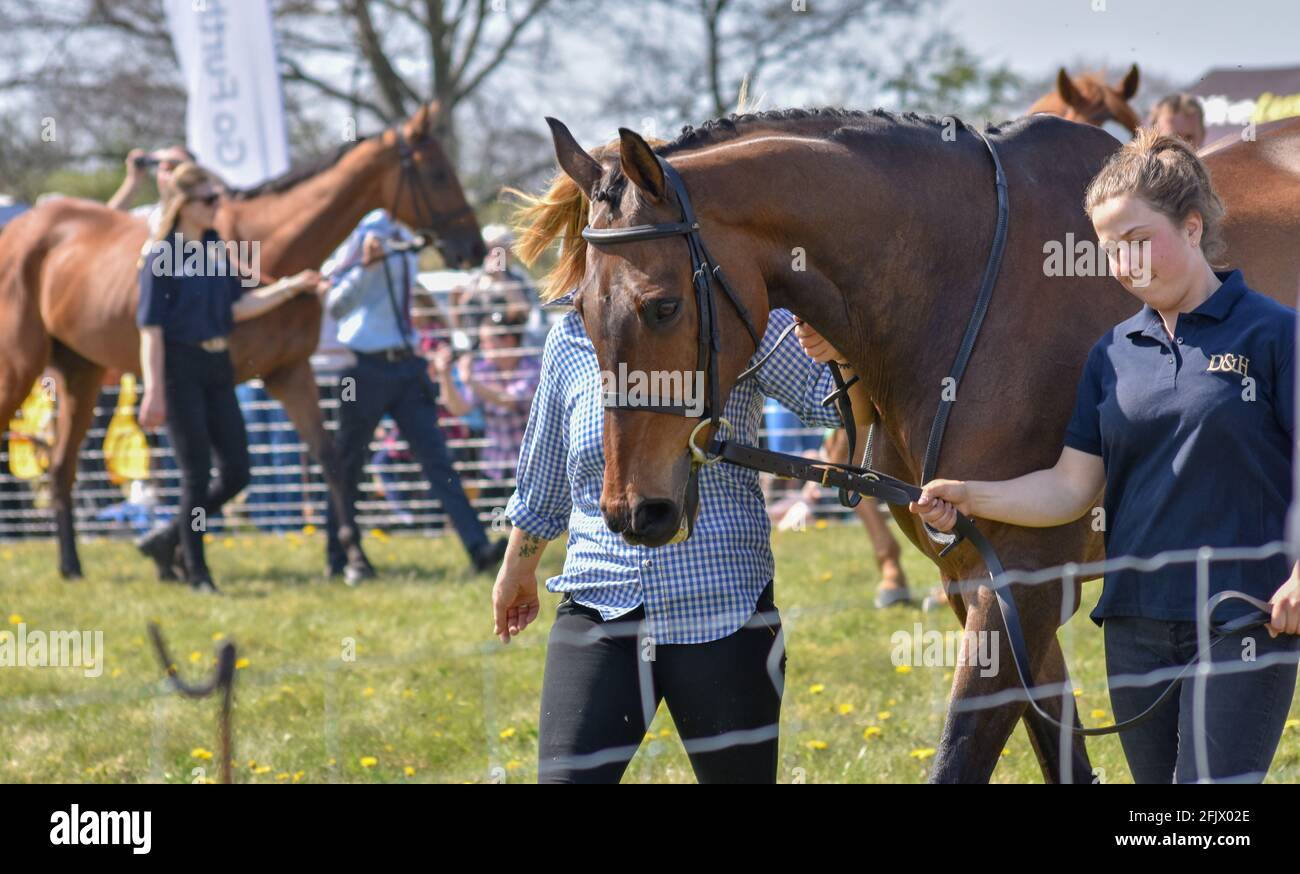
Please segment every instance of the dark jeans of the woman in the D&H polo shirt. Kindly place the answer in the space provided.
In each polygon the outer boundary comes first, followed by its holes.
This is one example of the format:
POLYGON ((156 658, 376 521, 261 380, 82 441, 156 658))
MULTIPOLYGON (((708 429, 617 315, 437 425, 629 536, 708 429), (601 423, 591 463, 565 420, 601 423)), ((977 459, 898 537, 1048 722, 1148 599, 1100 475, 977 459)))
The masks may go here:
MULTIPOLYGON (((1186 665, 1196 656, 1195 622, 1109 616, 1102 628, 1110 676, 1186 665)), ((1197 739, 1195 731, 1195 672, 1149 719, 1119 732, 1134 782, 1262 780, 1278 749, 1295 695, 1296 652, 1300 652, 1300 637, 1279 635, 1274 639, 1264 628, 1223 639, 1210 650, 1216 669, 1205 680, 1204 737, 1197 739), (1218 666, 1249 663, 1243 658, 1248 639, 1253 639, 1256 661, 1274 654, 1291 654, 1292 658, 1249 671, 1218 670, 1218 666), (1197 743, 1205 748, 1209 767, 1205 774, 1197 773, 1197 743)), ((1115 722, 1141 713, 1167 683, 1164 679, 1153 685, 1112 688, 1115 722)))

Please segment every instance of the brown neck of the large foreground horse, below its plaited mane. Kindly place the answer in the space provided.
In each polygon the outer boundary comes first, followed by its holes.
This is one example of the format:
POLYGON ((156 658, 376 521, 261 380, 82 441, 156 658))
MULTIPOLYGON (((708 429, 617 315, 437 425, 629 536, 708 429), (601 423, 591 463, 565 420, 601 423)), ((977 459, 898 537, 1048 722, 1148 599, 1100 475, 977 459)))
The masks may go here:
POLYGON ((757 232, 768 306, 803 317, 848 355, 896 445, 923 451, 975 302, 996 192, 978 140, 906 135, 915 147, 888 150, 888 163, 840 146, 719 166, 731 194, 719 187, 697 207, 757 232))

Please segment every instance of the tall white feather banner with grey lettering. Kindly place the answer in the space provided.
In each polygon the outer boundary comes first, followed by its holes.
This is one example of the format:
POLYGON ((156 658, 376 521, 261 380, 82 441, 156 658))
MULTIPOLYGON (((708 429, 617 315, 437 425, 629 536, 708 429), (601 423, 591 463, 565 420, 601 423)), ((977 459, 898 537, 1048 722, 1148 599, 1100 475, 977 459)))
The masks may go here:
POLYGON ((164 0, 164 9, 199 163, 234 187, 289 169, 269 0, 164 0))

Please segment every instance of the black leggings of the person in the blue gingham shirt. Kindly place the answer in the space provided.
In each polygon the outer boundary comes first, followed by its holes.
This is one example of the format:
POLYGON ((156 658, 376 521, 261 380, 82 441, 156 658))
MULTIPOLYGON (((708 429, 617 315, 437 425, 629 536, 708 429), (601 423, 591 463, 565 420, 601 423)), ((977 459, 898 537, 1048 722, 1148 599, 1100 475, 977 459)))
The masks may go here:
POLYGON ((540 783, 618 783, 659 701, 701 783, 775 783, 785 639, 768 583, 740 631, 706 644, 645 639, 645 611, 610 622, 568 597, 542 679, 540 783))

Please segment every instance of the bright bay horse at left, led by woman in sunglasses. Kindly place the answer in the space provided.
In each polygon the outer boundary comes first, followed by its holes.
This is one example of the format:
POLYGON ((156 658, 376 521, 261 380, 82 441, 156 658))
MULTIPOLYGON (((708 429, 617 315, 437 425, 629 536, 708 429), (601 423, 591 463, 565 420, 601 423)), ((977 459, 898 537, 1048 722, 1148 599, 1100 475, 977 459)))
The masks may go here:
MULTIPOLYGON (((407 121, 342 146, 311 166, 224 198, 217 230, 224 239, 261 245, 264 280, 321 261, 361 217, 378 207, 437 238, 454 267, 486 256, 478 222, 451 163, 433 137, 438 104, 407 121)), ((105 368, 139 372, 136 259, 148 238, 142 218, 90 200, 64 198, 23 213, 0 234, 0 423, 8 423, 47 367, 56 375, 57 441, 49 475, 58 531, 58 570, 82 575, 72 490, 77 454, 105 368)), ((333 441, 321 415, 308 359, 321 330, 316 295, 298 295, 235 325, 230 355, 235 378, 261 377, 280 401, 312 458, 325 472, 339 512, 348 564, 363 572, 351 507, 343 501, 333 441)))

